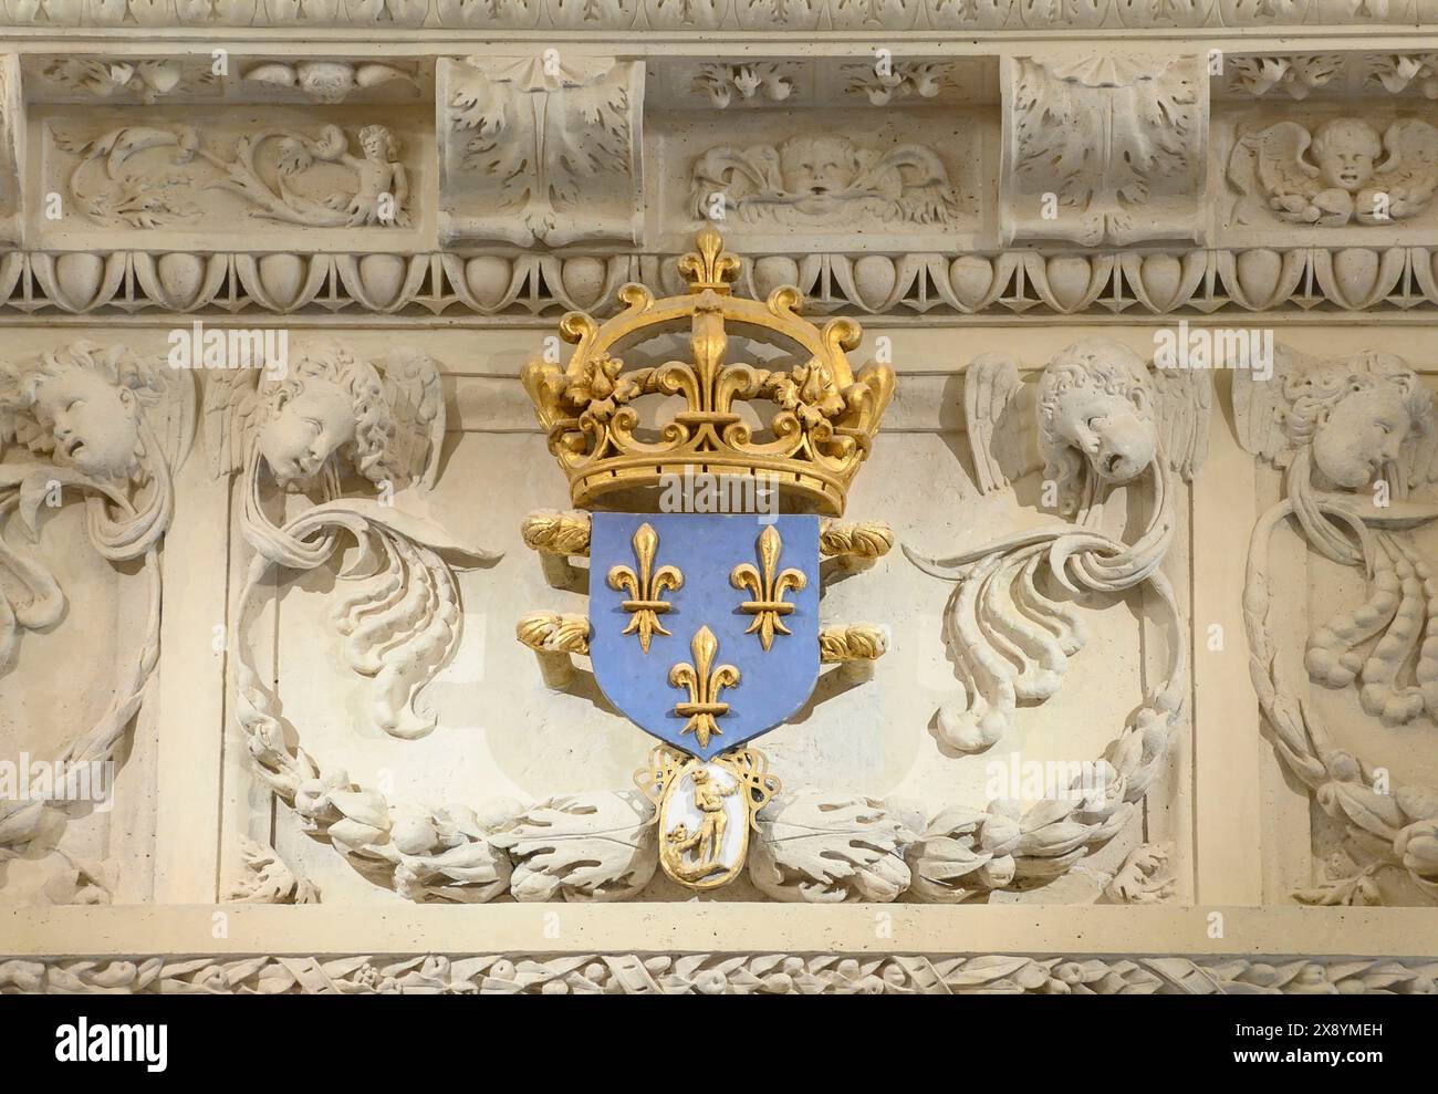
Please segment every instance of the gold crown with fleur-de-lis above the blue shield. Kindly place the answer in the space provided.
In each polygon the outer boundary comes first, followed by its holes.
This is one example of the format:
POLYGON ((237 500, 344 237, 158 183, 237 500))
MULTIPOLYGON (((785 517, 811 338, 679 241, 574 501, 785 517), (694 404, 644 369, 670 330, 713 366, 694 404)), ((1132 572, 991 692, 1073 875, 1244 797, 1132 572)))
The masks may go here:
POLYGON ((733 296, 729 282, 739 276, 739 259, 713 227, 696 243, 697 253, 679 260, 687 293, 654 299, 643 285, 626 285, 618 296, 627 306, 613 319, 597 323, 569 312, 559 321, 562 338, 578 345, 568 367, 525 367, 525 390, 549 451, 569 476, 572 503, 707 473, 774 476, 781 497, 841 515, 893 395, 893 369, 870 362, 856 377, 844 351, 858 345, 858 323, 831 319, 818 328, 801 319, 802 296, 788 285, 762 303, 733 296), (726 325, 801 364, 771 369, 726 362, 726 325), (626 368, 613 355, 686 328, 692 362, 626 368), (644 430, 633 403, 644 395, 679 395, 687 405, 651 436, 636 436, 644 430), (738 410, 745 403, 774 407, 758 437, 738 410))

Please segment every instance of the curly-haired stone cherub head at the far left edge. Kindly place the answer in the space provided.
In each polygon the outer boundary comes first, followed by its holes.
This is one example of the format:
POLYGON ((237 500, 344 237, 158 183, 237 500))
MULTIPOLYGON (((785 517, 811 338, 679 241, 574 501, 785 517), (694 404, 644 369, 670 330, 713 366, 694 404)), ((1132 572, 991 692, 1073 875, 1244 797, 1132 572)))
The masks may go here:
POLYGON ((16 437, 101 482, 145 474, 142 417, 162 392, 155 367, 119 345, 79 341, 0 367, 16 437))

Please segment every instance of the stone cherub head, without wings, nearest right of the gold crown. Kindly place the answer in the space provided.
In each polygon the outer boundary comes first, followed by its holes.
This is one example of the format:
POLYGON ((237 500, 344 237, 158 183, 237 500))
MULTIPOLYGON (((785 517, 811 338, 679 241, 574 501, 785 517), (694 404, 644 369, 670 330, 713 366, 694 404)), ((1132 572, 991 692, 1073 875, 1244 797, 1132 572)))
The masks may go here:
POLYGON ((1045 474, 1067 484, 1080 454, 1109 483, 1139 476, 1158 451, 1143 361, 1127 346, 1086 339, 1060 352, 1038 382, 1038 440, 1045 474))

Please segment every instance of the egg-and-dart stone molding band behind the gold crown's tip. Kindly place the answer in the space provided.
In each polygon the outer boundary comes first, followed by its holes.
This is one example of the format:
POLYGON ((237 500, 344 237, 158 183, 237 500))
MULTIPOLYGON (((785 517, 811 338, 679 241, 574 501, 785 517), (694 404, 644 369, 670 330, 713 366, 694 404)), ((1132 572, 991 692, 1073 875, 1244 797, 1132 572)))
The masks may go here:
MULTIPOLYGON (((499 322, 607 315, 626 282, 673 276, 674 256, 184 252, 0 253, 0 315, 375 315, 499 322)), ((792 282, 808 313, 886 318, 1143 316, 1263 312, 1314 322, 1438 309, 1438 247, 755 254, 738 290, 792 282)))

